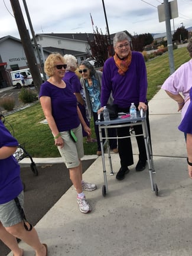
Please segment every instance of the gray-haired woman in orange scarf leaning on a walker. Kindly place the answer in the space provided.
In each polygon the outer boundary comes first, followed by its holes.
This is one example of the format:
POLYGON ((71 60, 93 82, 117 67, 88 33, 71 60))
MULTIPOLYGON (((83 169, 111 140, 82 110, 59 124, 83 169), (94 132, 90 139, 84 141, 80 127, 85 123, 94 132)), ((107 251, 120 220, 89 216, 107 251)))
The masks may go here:
MULTIPOLYGON (((115 56, 105 61, 102 76, 101 106, 98 114, 103 111, 103 106, 108 102, 112 92, 113 103, 118 105, 119 112, 129 112, 131 103, 134 102, 137 110, 141 108, 146 111, 149 138, 149 111, 147 103, 147 71, 144 57, 141 53, 131 51, 128 35, 124 32, 115 34, 113 38, 115 56)), ((142 134, 142 126, 134 126, 135 134, 142 134)), ((118 128, 118 136, 130 135, 129 129, 118 128)), ((147 164, 144 137, 136 137, 139 149, 139 161, 136 171, 142 171, 147 164)), ((121 168, 116 174, 116 179, 123 180, 129 172, 128 166, 134 164, 132 145, 130 138, 118 139, 119 157, 121 168)))

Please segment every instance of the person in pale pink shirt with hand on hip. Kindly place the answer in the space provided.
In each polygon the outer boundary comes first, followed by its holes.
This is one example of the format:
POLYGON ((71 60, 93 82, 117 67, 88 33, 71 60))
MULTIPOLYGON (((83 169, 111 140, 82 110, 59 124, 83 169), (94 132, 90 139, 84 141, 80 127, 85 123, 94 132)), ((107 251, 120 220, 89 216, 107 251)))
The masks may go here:
POLYGON ((192 38, 190 38, 187 45, 187 50, 191 59, 178 67, 161 86, 161 88, 167 92, 168 96, 177 102, 178 111, 181 111, 181 121, 190 104, 189 92, 192 86, 192 38))

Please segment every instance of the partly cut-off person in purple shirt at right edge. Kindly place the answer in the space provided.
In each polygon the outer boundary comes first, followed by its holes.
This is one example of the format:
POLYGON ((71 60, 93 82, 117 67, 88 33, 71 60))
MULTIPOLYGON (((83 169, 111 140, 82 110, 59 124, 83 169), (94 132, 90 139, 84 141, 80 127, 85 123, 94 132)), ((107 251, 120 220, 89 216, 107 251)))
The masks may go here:
MULTIPOLYGON (((192 88, 190 89, 190 99, 192 99, 192 88)), ((187 164, 188 164, 188 175, 192 179, 192 101, 187 108, 186 115, 178 126, 180 131, 187 134, 187 164)))

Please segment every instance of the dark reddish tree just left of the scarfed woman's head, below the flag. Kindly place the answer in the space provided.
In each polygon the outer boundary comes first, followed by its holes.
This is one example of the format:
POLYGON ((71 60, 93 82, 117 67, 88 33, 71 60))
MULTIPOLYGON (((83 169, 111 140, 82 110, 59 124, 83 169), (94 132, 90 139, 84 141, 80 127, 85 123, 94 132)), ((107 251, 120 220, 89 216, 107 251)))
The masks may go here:
POLYGON ((87 38, 90 49, 92 51, 92 57, 95 57, 97 60, 105 61, 109 57, 109 41, 108 35, 103 35, 102 31, 99 33, 98 28, 96 27, 96 31, 93 31, 94 39, 91 41, 87 38))

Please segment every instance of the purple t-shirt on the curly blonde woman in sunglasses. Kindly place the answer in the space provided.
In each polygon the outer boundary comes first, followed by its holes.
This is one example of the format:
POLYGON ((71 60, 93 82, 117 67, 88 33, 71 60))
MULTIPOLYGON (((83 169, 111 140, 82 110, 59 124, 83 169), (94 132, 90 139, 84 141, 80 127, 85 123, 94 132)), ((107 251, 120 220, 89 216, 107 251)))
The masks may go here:
POLYGON ((66 88, 58 88, 46 81, 41 85, 39 94, 39 97, 51 98, 52 115, 59 132, 77 128, 80 124, 76 96, 73 94, 70 83, 65 79, 64 82, 66 88))

